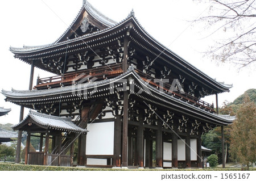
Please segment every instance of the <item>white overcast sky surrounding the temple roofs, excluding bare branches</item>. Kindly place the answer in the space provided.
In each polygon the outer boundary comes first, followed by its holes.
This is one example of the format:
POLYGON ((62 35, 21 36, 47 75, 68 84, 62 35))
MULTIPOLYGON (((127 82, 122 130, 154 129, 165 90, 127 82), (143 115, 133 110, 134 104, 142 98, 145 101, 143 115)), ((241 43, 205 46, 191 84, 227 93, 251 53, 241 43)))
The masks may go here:
MULTIPOLYGON (((183 57, 199 70, 217 81, 233 83, 230 92, 219 95, 219 105, 224 100, 232 102, 247 89, 256 88, 255 71, 244 69, 238 73, 233 65, 219 65, 208 57, 203 57, 214 37, 204 38, 205 31, 194 20, 197 16, 207 15, 209 5, 195 3, 192 0, 158 0, 158 1, 118 1, 90 0, 96 9, 109 18, 120 22, 134 9, 135 16, 142 27, 152 37, 166 45, 173 52, 183 57), (204 35, 202 35, 204 34, 204 35)), ((82 0, 9 0, 0 1, 0 89, 27 90, 30 77, 30 65, 13 57, 9 47, 23 45, 44 45, 53 43, 73 22, 82 6, 82 0)), ((35 69, 36 77, 48 77, 49 73, 35 69)), ((33 85, 33 86, 34 86, 33 85)), ((0 107, 12 108, 12 111, 0 117, 0 123, 19 122, 20 107, 5 102, 0 94, 0 107)), ((215 96, 205 98, 208 103, 215 104, 215 96)), ((26 117, 28 110, 25 110, 26 117)))

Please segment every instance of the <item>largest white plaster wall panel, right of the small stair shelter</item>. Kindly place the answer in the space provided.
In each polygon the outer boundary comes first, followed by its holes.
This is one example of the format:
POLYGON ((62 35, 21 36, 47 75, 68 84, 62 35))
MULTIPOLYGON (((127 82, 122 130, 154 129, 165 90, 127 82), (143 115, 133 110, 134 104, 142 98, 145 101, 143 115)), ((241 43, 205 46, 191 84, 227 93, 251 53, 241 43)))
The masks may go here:
POLYGON ((92 123, 87 129, 86 154, 114 154, 114 122, 92 123))

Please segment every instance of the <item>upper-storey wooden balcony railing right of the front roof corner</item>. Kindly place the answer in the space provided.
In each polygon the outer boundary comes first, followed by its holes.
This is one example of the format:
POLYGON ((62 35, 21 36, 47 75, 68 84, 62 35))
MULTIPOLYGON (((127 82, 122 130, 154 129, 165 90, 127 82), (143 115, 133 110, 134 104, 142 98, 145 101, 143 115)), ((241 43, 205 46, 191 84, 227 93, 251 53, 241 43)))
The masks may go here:
MULTIPOLYGON (((141 70, 136 69, 135 70, 140 77, 143 79, 143 81, 150 83, 153 87, 158 87, 158 89, 162 89, 167 92, 167 94, 173 95, 175 98, 183 100, 184 102, 187 102, 189 104, 193 104, 196 107, 200 107, 206 111, 215 112, 213 104, 209 104, 207 102, 204 102, 203 100, 200 100, 192 95, 187 94, 186 92, 178 93, 171 91, 171 85, 169 83, 163 82, 164 87, 160 86, 156 82, 152 82, 151 80, 154 79, 154 77, 151 77, 150 75, 147 75, 143 73, 141 70)), ((158 80, 160 82, 160 80, 158 80)))

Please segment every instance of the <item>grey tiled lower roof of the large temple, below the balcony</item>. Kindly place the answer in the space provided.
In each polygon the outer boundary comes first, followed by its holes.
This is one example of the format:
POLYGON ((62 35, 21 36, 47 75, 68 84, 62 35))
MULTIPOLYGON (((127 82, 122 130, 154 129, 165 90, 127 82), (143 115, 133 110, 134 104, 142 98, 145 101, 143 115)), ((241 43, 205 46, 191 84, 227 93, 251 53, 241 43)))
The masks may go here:
MULTIPOLYGON (((152 87, 147 82, 143 81, 143 79, 135 72, 134 67, 130 66, 126 73, 123 73, 119 75, 118 77, 112 78, 112 79, 106 79, 104 81, 98 81, 98 82, 89 82, 89 83, 83 83, 79 86, 67 86, 67 87, 59 87, 55 89, 47 89, 47 90, 32 90, 32 91, 3 91, 2 94, 11 97, 11 98, 28 98, 28 97, 38 97, 41 96, 48 96, 48 95, 57 95, 57 94, 63 94, 67 92, 74 92, 77 90, 86 90, 89 88, 95 88, 100 87, 104 85, 109 85, 112 82, 117 81, 118 79, 125 79, 129 77, 129 75, 134 75, 134 77, 141 82, 141 85, 148 87, 152 92, 155 92, 155 94, 158 94, 159 102, 164 101, 166 104, 171 104, 175 107, 176 111, 184 110, 189 111, 192 114, 200 114, 204 115, 205 117, 208 117, 212 121, 216 121, 219 124, 231 124, 236 117, 229 116, 229 115, 217 115, 216 113, 210 113, 208 111, 202 110, 199 107, 193 106, 187 102, 184 102, 183 100, 177 99, 174 96, 170 94, 166 94, 163 91, 160 91, 156 89, 155 87, 152 87), (166 101, 168 100, 168 101, 166 101), (217 121, 219 120, 219 121, 217 121), (223 121, 223 122, 222 122, 223 121)), ((143 91, 143 90, 142 90, 143 91)), ((141 96, 141 95, 139 95, 141 96)), ((148 96, 153 96, 148 95, 148 96)))

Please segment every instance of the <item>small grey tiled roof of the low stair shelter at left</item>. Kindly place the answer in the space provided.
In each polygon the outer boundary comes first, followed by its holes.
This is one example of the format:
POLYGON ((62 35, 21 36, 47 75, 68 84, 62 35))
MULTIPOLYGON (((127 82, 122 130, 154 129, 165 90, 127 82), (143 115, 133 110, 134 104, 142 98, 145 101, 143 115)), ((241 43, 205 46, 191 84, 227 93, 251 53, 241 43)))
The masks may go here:
POLYGON ((77 125, 75 125, 72 122, 71 117, 58 117, 46 115, 44 113, 39 113, 31 110, 29 111, 27 117, 23 121, 20 121, 20 123, 14 125, 12 128, 16 129, 17 127, 19 127, 19 125, 22 125, 25 121, 27 121, 28 118, 31 118, 37 124, 42 125, 43 127, 48 127, 49 129, 57 129, 60 131, 71 131, 80 133, 88 132, 86 129, 77 127, 77 125))

